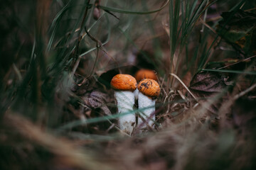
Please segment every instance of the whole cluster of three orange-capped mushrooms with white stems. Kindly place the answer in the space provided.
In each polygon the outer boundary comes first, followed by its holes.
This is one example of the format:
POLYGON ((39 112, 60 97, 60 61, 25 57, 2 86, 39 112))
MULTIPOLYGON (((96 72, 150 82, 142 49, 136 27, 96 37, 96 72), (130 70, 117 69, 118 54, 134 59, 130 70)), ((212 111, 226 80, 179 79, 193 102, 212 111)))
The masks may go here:
MULTIPOLYGON (((151 70, 142 69, 137 72, 135 77, 136 79, 129 74, 117 74, 112 78, 111 86, 114 89, 114 97, 117 100, 118 113, 132 111, 134 101, 138 99, 139 109, 142 109, 142 113, 144 113, 138 119, 138 125, 141 125, 144 120, 149 120, 147 124, 152 126, 155 118, 151 116, 151 113, 155 111, 155 103, 157 96, 160 94, 160 86, 155 81, 156 75, 151 70), (138 85, 137 81, 139 81, 138 85)), ((136 117, 133 114, 123 115, 119 117, 118 124, 121 130, 132 134, 136 125, 136 117)), ((146 123, 140 128, 141 130, 146 128, 146 123)))

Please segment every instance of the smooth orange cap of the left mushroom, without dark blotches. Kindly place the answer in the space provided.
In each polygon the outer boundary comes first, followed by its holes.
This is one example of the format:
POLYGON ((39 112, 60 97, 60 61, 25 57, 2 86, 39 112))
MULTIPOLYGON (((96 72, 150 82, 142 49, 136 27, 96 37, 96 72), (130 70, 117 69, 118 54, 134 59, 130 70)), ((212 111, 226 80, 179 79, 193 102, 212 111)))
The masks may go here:
POLYGON ((129 74, 117 74, 111 82, 111 86, 115 90, 134 91, 137 88, 137 81, 129 74))

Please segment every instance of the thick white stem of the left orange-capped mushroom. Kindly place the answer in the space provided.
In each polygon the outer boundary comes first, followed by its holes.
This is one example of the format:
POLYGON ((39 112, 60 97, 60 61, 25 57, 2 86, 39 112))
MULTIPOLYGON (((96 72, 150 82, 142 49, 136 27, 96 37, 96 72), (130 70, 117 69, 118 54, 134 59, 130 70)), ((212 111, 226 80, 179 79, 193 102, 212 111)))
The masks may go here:
POLYGON ((117 99, 117 109, 119 114, 131 112, 127 115, 121 115, 118 120, 119 128, 131 135, 136 122, 135 115, 132 113, 134 93, 132 91, 114 91, 114 97, 117 99))

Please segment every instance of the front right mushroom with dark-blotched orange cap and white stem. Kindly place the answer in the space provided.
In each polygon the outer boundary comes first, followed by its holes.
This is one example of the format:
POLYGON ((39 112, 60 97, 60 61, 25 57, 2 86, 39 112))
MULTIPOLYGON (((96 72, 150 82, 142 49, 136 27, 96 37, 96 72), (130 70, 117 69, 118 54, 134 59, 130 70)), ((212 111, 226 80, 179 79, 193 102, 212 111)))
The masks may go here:
MULTIPOLYGON (((160 94, 160 86, 154 79, 143 79, 142 81, 139 81, 139 84, 137 86, 139 90, 139 96, 138 96, 138 104, 139 109, 145 108, 141 115, 141 117, 144 120, 148 120, 149 117, 151 117, 151 113, 154 113, 155 111, 155 104, 156 104, 156 98, 160 94)), ((138 125, 143 123, 143 119, 138 118, 138 125)), ((153 116, 147 124, 151 127, 153 127, 155 116, 153 116)), ((141 130, 146 128, 146 123, 142 125, 141 130)))

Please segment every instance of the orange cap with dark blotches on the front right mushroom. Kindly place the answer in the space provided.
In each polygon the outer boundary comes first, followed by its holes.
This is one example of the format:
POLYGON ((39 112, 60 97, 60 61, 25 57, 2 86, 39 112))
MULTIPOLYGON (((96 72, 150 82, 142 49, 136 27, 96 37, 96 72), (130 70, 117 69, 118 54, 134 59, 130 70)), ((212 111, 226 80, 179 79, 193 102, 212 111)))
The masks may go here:
POLYGON ((143 79, 139 81, 138 90, 150 98, 156 98, 160 94, 160 86, 154 79, 143 79))

